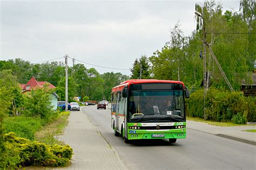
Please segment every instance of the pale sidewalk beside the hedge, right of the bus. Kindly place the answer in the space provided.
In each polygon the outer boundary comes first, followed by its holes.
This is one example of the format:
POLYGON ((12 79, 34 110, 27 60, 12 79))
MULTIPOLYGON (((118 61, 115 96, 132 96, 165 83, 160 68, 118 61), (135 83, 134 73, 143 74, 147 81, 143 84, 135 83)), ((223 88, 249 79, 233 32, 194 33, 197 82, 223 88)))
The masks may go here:
POLYGON ((256 145, 256 133, 242 130, 256 129, 256 126, 214 126, 207 123, 187 121, 187 128, 205 133, 214 134, 220 137, 241 141, 247 144, 256 145))

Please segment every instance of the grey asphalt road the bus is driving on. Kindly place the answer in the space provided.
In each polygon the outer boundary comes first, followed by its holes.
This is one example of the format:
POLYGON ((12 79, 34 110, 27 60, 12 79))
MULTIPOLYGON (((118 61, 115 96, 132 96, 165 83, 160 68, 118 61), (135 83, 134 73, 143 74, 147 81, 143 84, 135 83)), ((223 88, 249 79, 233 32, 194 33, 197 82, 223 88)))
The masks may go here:
POLYGON ((187 138, 139 140, 125 144, 111 129, 110 110, 83 108, 128 169, 255 169, 254 145, 187 129, 187 138))

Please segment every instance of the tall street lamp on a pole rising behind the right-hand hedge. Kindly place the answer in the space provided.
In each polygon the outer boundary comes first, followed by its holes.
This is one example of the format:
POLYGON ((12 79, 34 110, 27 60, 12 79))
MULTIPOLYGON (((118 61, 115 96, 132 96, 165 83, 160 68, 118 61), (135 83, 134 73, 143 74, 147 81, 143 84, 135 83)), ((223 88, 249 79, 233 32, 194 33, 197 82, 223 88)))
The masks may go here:
POLYGON ((203 19, 203 34, 204 34, 204 38, 203 38, 203 45, 204 45, 204 56, 203 56, 203 60, 204 60, 204 120, 206 120, 206 115, 205 115, 205 96, 206 96, 206 44, 205 44, 205 39, 206 39, 206 33, 205 33, 205 20, 203 15, 200 12, 194 12, 198 17, 201 17, 203 19))

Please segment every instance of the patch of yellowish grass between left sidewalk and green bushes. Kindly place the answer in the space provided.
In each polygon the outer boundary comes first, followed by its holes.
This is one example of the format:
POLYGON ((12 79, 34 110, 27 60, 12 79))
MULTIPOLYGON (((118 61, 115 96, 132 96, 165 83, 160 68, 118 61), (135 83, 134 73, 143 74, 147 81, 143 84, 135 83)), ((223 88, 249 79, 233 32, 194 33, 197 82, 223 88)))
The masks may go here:
POLYGON ((35 133, 36 140, 48 145, 58 144, 64 146, 65 144, 62 141, 57 140, 56 136, 58 134, 62 134, 65 126, 68 125, 69 115, 70 112, 68 111, 61 112, 56 121, 50 123, 49 125, 43 126, 40 131, 35 133))

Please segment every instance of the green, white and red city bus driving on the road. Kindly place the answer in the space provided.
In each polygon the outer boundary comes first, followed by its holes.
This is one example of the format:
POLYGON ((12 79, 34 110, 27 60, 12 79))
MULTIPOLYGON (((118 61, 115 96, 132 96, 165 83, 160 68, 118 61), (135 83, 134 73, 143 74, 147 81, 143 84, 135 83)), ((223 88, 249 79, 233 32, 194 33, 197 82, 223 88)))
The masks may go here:
POLYGON ((134 139, 186 138, 185 98, 181 81, 127 80, 112 88, 111 128, 125 143, 134 139))

